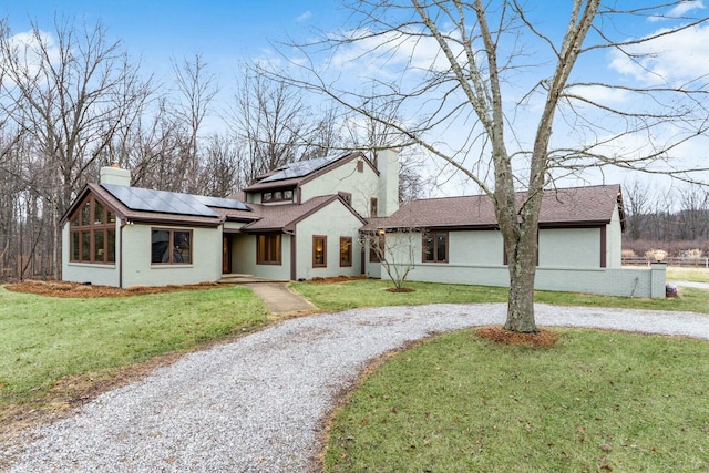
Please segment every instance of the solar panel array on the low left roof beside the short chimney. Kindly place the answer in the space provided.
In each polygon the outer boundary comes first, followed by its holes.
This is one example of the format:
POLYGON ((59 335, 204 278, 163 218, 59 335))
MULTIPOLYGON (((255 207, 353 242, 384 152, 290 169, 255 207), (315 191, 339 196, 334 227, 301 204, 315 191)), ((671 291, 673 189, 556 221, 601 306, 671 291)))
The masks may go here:
POLYGON ((196 195, 127 187, 116 184, 102 184, 102 187, 109 191, 115 198, 121 200, 132 210, 195 215, 199 217, 219 216, 219 214, 212 210, 205 203, 199 200, 201 196, 196 195))

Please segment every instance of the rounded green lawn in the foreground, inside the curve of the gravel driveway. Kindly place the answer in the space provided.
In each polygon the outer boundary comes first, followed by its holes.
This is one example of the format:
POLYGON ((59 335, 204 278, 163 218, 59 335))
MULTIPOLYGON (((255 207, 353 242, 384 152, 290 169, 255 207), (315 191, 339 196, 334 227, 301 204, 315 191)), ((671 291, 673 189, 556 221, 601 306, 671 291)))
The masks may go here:
POLYGON ((707 342, 558 330, 552 348, 472 330, 402 352, 335 415, 328 472, 707 471, 707 342))

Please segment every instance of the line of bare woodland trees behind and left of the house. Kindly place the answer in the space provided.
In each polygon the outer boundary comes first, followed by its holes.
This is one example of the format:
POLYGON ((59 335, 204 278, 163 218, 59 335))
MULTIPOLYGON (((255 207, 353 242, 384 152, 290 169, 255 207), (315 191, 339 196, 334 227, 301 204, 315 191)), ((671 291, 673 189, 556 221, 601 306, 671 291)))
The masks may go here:
MULTIPOLYGON (((226 197, 286 163, 393 144, 384 126, 310 105, 251 63, 217 103, 201 54, 173 60, 160 83, 102 23, 53 27, 0 21, 0 279, 61 276, 59 222, 102 166, 131 169, 134 186, 226 197)), ((421 192, 421 157, 402 157, 407 198, 421 192)))

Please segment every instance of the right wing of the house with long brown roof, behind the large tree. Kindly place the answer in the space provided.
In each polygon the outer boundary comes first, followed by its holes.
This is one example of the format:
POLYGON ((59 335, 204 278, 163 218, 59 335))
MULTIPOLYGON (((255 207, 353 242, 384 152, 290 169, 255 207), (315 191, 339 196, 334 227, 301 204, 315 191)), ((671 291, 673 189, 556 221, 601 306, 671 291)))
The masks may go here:
MULTIPOLYGON (((525 196, 517 193, 518 205, 525 196)), ((535 287, 664 296, 664 266, 641 271, 621 267, 624 220, 619 185, 547 191, 540 213, 535 287)), ((508 285, 504 241, 486 195, 405 203, 389 217, 370 218, 362 232, 384 238, 388 260, 409 266, 410 280, 508 285)))

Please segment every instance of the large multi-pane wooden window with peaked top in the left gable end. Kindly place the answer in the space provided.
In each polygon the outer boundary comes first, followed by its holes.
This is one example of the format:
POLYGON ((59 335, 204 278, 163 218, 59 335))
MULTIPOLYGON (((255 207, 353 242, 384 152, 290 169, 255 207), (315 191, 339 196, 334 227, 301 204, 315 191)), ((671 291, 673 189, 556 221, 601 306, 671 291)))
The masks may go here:
POLYGON ((115 215, 93 195, 69 220, 69 259, 76 263, 115 263, 115 215))

